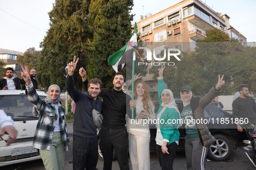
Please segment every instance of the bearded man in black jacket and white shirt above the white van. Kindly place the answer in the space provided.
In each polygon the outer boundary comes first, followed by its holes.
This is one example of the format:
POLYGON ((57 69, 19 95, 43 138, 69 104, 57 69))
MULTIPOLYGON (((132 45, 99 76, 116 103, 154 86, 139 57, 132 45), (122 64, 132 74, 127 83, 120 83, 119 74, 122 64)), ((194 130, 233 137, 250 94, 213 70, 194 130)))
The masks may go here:
POLYGON ((18 77, 13 77, 14 70, 11 67, 6 68, 5 75, 3 79, 0 79, 0 90, 21 90, 21 84, 26 82, 18 77))

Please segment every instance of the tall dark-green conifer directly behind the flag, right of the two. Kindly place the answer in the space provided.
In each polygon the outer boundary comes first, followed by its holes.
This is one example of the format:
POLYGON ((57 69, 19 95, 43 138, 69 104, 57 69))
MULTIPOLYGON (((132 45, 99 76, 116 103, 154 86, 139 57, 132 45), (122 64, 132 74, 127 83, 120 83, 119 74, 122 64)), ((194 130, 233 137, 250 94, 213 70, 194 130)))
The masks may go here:
POLYGON ((132 6, 133 0, 91 0, 88 20, 93 38, 88 44, 87 74, 100 78, 107 88, 113 87, 114 75, 107 60, 131 37, 132 6))

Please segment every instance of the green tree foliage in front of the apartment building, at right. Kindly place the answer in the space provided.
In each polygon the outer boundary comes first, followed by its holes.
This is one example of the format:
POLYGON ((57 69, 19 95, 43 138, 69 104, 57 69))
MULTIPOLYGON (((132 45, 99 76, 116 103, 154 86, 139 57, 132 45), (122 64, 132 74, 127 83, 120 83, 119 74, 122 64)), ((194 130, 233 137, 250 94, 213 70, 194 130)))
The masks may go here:
MULTIPOLYGON (((224 75, 222 95, 233 94, 240 84, 256 90, 256 48, 242 44, 217 28, 207 32, 207 38, 198 41, 193 52, 182 53, 182 59, 164 71, 165 82, 174 96, 180 96, 180 87, 189 85, 194 95, 203 96, 217 83, 218 74, 224 75)), ((157 67, 153 69, 155 78, 157 67)))

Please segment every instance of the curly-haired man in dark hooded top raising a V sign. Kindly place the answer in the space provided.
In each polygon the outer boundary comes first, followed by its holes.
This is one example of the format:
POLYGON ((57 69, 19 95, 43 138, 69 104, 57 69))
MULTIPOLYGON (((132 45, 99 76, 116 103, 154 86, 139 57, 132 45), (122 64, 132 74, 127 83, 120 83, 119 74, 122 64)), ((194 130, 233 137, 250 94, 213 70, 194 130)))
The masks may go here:
POLYGON ((93 122, 93 110, 101 112, 101 100, 97 97, 102 82, 91 79, 88 91, 82 93, 74 86, 74 71, 79 58, 68 64, 66 89, 75 101, 73 123, 73 170, 95 170, 98 161, 97 127, 93 122))

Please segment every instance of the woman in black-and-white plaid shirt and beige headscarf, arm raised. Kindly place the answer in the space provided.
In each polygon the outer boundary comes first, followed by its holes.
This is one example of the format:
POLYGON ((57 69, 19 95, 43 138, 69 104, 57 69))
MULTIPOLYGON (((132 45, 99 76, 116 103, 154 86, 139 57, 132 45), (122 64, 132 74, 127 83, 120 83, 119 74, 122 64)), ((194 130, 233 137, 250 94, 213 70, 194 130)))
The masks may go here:
POLYGON ((26 95, 39 114, 33 146, 39 149, 46 170, 63 170, 69 137, 64 107, 59 104, 60 88, 58 85, 51 85, 47 98, 42 100, 33 87, 28 66, 25 66, 25 69, 21 67, 21 76, 26 82, 26 95))

